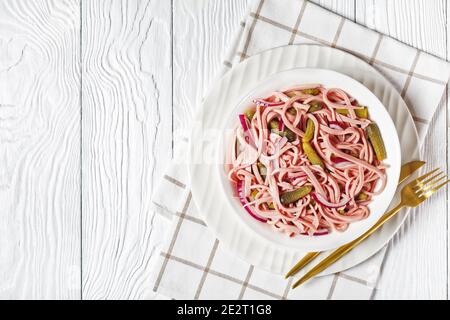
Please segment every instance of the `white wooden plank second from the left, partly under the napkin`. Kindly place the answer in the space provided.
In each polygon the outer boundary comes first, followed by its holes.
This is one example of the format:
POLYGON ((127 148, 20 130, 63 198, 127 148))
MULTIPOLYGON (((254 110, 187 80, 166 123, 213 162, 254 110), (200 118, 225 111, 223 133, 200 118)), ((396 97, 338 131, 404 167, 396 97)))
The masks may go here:
POLYGON ((83 298, 151 297, 150 199, 172 156, 171 3, 82 1, 83 298))

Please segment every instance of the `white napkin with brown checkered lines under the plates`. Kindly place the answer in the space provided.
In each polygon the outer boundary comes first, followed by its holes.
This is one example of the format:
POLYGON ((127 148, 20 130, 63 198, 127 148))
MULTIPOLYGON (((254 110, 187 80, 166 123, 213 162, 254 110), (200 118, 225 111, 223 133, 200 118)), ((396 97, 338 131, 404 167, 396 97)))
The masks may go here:
MULTIPOLYGON (((258 0, 250 9, 222 74, 252 55, 287 44, 314 43, 345 50, 373 65, 398 89, 422 141, 446 89, 447 62, 307 1, 258 0)), ((349 270, 290 290, 291 282, 282 276, 249 265, 224 248, 191 201, 184 158, 187 143, 185 138, 177 141, 179 155, 153 197, 156 212, 172 218, 167 242, 153 266, 154 291, 175 299, 373 297, 386 249, 349 270)))

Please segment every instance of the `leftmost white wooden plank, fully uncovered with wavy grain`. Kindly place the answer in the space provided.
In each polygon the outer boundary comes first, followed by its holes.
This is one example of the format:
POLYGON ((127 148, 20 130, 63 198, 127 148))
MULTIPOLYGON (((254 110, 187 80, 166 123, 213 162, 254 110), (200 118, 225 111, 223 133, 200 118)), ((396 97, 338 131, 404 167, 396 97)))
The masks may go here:
POLYGON ((0 2, 0 299, 80 297, 79 21, 0 2))

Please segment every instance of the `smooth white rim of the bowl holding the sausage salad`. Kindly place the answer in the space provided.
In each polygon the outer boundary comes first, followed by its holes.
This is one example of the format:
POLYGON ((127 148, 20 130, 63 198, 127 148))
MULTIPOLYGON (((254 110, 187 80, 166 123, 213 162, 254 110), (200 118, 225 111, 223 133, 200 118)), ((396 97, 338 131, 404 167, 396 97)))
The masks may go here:
MULTIPOLYGON (((353 241, 373 226, 386 211, 397 189, 397 182, 400 175, 400 142, 389 113, 381 104, 380 100, 365 86, 335 71, 295 68, 273 74, 261 83, 258 83, 250 93, 245 93, 245 98, 236 101, 235 105, 234 108, 229 108, 230 110, 227 110, 228 112, 224 111, 221 113, 221 115, 227 114, 228 120, 222 123, 216 134, 216 153, 218 155, 216 170, 219 172, 218 175, 222 183, 223 190, 220 194, 225 195, 226 200, 228 200, 228 207, 231 206, 233 208, 233 212, 229 212, 228 214, 234 214, 252 229, 252 232, 259 234, 261 237, 282 248, 292 248, 301 251, 325 251, 353 241), (352 223, 345 232, 331 232, 327 235, 314 237, 308 235, 288 237, 286 234, 277 232, 270 225, 256 221, 243 209, 239 198, 235 196, 236 192, 232 184, 228 181, 224 165, 225 153, 231 149, 233 132, 236 126, 239 125, 238 115, 248 109, 254 99, 267 97, 275 90, 311 83, 319 83, 326 88, 340 88, 349 93, 360 104, 368 106, 370 118, 378 124, 383 140, 386 141, 385 145, 386 150, 388 150, 388 157, 384 163, 387 165, 386 175, 388 179, 384 191, 374 197, 374 201, 369 205, 371 212, 369 217, 362 221, 352 223), (221 141, 222 139, 220 137, 225 137, 225 139, 221 141)), ((209 180, 209 183, 215 184, 216 181, 209 180)), ((208 186, 205 187, 209 189, 208 186)))

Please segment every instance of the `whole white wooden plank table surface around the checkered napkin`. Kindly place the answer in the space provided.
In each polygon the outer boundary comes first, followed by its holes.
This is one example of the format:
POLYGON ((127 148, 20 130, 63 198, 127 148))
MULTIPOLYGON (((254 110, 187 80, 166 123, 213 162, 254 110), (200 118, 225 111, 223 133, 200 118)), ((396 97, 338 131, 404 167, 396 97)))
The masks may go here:
MULTIPOLYGON (((445 0, 314 1, 442 58, 445 0)), ((158 298, 150 198, 249 0, 0 0, 0 298, 158 298)), ((429 167, 448 170, 448 107, 429 167)), ((391 243, 377 299, 446 299, 448 191, 391 243)))

